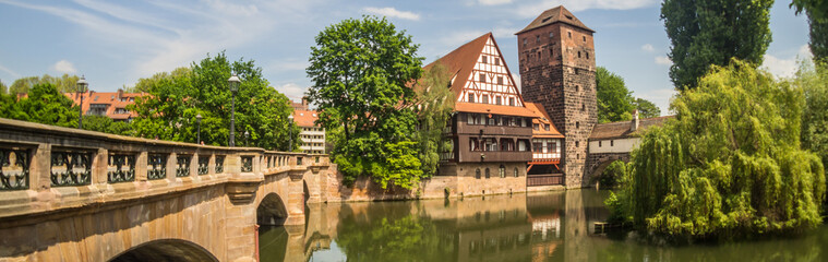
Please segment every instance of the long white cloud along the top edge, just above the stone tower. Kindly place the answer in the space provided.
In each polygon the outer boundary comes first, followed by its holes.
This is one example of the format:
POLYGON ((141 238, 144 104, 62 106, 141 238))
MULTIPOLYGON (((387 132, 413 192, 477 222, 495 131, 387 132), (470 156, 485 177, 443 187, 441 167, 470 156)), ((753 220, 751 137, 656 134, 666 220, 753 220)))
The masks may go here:
POLYGON ((629 10, 651 7, 660 0, 541 0, 518 7, 515 12, 523 17, 538 15, 539 10, 548 10, 557 5, 564 5, 572 12, 588 9, 629 10))

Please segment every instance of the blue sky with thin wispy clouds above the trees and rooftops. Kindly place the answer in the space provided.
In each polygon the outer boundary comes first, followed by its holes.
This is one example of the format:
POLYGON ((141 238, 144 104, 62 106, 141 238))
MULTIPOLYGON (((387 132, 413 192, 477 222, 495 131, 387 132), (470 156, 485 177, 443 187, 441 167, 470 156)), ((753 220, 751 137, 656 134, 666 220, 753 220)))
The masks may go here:
MULTIPOLYGON (((789 3, 777 1, 770 12, 773 41, 764 67, 778 76, 809 56, 807 21, 789 3)), ((92 90, 111 92, 226 50, 232 60, 255 60, 276 90, 298 99, 311 84, 304 68, 313 37, 363 14, 385 15, 412 35, 424 63, 492 32, 517 72, 514 33, 560 4, 597 32, 598 66, 667 112, 674 92, 658 0, 0 0, 0 81, 84 74, 92 90)))

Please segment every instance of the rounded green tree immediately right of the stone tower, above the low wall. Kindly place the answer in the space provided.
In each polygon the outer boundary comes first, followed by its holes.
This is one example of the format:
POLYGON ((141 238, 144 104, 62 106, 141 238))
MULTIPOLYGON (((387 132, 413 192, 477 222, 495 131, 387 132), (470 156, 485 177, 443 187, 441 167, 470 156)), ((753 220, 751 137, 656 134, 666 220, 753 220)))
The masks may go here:
POLYGON ((633 119, 633 96, 624 79, 603 67, 596 70, 596 96, 598 97, 598 122, 615 122, 633 119))

